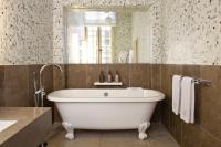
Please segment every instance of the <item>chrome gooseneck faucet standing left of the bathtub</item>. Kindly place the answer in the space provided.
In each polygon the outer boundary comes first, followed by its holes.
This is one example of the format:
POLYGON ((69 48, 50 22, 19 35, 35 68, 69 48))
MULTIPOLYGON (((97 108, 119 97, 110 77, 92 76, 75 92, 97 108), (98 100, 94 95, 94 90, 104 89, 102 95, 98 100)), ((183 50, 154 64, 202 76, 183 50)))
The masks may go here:
POLYGON ((45 70, 48 66, 55 66, 55 67, 57 67, 57 69, 61 71, 61 73, 63 74, 62 67, 61 67, 60 65, 57 65, 57 64, 45 64, 45 65, 43 65, 43 66, 40 69, 40 72, 39 72, 40 90, 36 91, 35 94, 40 94, 40 96, 41 96, 41 107, 44 106, 43 99, 44 99, 44 95, 46 94, 45 91, 44 91, 44 85, 43 85, 44 83, 43 83, 43 81, 42 81, 42 80, 43 80, 42 75, 43 75, 44 70, 45 70))

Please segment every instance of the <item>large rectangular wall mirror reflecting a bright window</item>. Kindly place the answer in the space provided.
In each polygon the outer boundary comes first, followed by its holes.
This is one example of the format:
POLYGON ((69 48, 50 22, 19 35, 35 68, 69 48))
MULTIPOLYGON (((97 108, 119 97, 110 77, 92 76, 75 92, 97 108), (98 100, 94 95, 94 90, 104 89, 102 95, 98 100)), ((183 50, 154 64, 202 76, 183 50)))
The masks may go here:
POLYGON ((149 63, 149 11, 141 8, 65 8, 67 63, 149 63))

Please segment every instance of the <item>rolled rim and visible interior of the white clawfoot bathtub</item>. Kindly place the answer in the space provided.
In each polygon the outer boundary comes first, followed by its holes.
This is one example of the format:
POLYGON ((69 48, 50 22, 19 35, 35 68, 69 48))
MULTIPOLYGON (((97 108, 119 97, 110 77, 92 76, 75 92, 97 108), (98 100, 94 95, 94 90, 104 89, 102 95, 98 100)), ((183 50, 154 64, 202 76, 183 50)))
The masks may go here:
POLYGON ((150 102, 161 101, 164 94, 155 90, 129 88, 92 88, 60 90, 49 94, 53 102, 150 102), (107 95, 105 95, 107 94, 107 95), (61 98, 62 97, 62 98, 61 98))

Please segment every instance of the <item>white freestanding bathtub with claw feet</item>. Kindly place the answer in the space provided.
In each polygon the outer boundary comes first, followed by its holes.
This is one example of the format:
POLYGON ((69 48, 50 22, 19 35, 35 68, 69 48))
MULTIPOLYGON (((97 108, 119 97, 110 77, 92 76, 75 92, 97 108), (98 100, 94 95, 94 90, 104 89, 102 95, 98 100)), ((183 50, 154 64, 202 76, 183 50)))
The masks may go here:
POLYGON ((74 129, 134 128, 145 139, 156 104, 164 98, 158 91, 137 87, 60 90, 48 95, 59 108, 69 139, 74 139, 74 129))

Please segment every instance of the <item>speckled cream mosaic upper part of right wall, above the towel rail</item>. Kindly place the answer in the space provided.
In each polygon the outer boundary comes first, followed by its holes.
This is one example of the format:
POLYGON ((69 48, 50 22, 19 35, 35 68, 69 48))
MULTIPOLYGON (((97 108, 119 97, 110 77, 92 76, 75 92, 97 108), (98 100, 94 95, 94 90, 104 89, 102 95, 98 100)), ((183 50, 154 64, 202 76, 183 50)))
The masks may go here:
POLYGON ((162 63, 221 64, 221 0, 161 0, 162 63))

